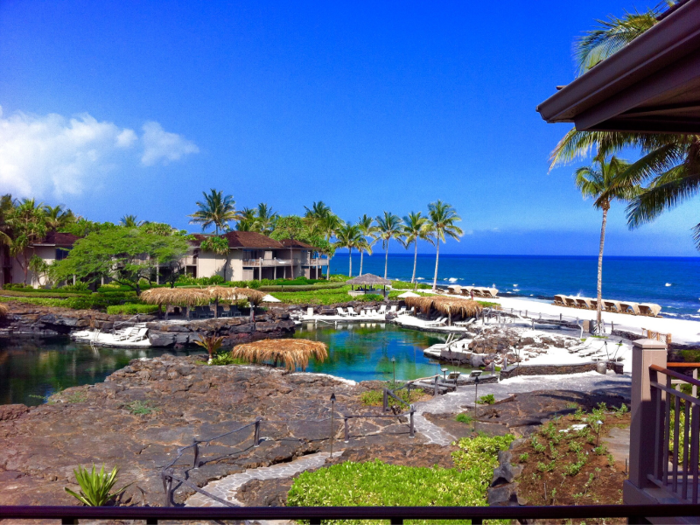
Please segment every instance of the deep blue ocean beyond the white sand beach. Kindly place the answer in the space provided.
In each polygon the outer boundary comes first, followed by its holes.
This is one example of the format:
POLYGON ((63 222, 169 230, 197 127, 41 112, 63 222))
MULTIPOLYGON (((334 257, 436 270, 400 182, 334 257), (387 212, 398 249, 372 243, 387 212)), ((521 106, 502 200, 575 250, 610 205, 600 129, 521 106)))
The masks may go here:
MULTIPOLYGON (((360 256, 353 253, 353 275, 360 256)), ((390 279, 410 281, 412 254, 389 253, 390 279)), ((597 257, 440 254, 438 284, 495 286, 503 296, 553 299, 555 294, 595 297, 597 257)), ((331 260, 331 273, 348 273, 348 254, 331 260)), ((384 275, 384 253, 365 254, 363 273, 384 275)), ((435 255, 418 255, 418 282, 433 282, 435 255)), ((603 297, 657 303, 662 315, 700 319, 700 257, 605 257, 603 297)))

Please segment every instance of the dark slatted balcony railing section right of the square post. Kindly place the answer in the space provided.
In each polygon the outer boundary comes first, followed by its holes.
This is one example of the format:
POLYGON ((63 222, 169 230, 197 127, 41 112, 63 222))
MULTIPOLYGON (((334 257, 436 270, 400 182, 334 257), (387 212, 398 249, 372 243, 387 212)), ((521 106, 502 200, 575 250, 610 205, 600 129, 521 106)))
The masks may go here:
POLYGON ((674 387, 700 386, 697 379, 658 365, 649 367, 654 418, 654 468, 649 480, 685 503, 698 503, 700 399, 674 387), (661 381, 659 374, 665 376, 661 381), (678 384, 678 383, 676 383, 678 384))

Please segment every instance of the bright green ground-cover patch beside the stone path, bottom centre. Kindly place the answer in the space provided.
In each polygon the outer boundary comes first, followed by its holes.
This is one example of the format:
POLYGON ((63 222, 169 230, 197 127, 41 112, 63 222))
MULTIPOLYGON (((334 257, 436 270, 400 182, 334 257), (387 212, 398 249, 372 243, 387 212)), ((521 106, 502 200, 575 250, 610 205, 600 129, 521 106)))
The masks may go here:
MULTIPOLYGON (((289 491, 290 507, 357 506, 486 506, 486 490, 498 464, 498 451, 508 448, 513 436, 461 439, 453 453, 457 468, 406 467, 379 460, 346 462, 302 472, 289 491)), ((338 524, 347 521, 328 520, 338 524)), ((353 523, 370 523, 355 521, 353 523)), ((409 524, 452 524, 466 521, 407 520, 409 524)))

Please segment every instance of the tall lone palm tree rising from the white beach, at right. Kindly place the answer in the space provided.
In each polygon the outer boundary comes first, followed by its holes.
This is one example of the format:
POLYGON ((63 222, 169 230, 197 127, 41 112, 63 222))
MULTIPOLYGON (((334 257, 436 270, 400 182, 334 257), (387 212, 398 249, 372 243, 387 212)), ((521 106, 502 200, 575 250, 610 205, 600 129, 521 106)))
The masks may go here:
POLYGON ((611 157, 609 162, 605 157, 597 156, 595 164, 598 166, 584 166, 576 170, 576 187, 581 190, 583 198, 595 199, 593 206, 603 210, 603 225, 600 229, 600 248, 598 250, 598 312, 597 332, 602 333, 602 303, 603 303, 603 246, 605 244, 605 226, 608 220, 610 203, 614 200, 629 201, 639 194, 640 188, 630 184, 628 180, 620 177, 629 164, 616 157, 611 157))

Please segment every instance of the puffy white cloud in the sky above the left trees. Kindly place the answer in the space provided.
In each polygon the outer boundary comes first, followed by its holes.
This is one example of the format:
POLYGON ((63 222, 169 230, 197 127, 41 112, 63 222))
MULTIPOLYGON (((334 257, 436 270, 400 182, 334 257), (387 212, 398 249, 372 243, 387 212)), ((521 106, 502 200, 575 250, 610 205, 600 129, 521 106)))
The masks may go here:
POLYGON ((99 122, 87 113, 3 116, 0 107, 0 189, 16 197, 77 195, 105 173, 142 154, 143 165, 178 160, 197 146, 157 122, 141 138, 129 128, 99 122))

